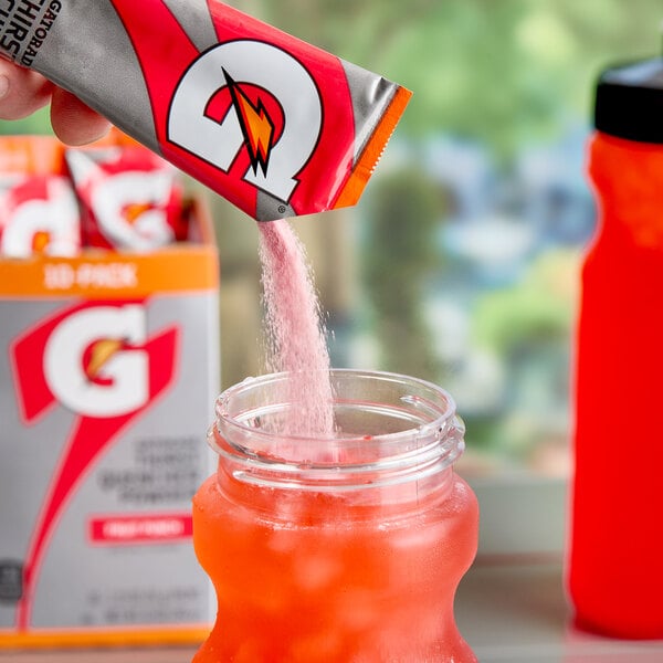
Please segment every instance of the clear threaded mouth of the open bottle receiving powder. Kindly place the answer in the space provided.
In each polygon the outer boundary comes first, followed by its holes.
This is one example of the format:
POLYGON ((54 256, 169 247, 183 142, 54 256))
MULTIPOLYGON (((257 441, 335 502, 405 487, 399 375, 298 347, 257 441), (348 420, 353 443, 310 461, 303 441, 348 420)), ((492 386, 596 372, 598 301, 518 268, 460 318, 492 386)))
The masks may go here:
POLYGON ((334 369, 329 380, 333 433, 281 433, 295 406, 288 376, 272 373, 221 393, 210 446, 241 481, 315 490, 419 480, 450 467, 463 452, 465 428, 444 389, 383 371, 334 369))

